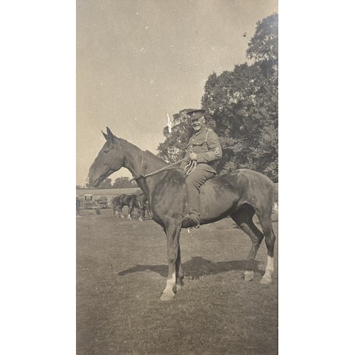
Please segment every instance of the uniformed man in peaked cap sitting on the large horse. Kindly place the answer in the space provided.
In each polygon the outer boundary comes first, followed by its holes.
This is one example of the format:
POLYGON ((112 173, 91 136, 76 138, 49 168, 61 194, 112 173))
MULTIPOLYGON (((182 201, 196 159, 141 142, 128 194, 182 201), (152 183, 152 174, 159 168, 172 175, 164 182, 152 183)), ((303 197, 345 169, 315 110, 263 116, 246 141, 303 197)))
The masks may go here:
POLYGON ((187 111, 194 133, 187 146, 185 158, 180 168, 185 170, 186 195, 189 216, 182 221, 182 228, 200 227, 200 187, 216 175, 216 162, 222 158, 219 138, 207 128, 204 109, 187 111))

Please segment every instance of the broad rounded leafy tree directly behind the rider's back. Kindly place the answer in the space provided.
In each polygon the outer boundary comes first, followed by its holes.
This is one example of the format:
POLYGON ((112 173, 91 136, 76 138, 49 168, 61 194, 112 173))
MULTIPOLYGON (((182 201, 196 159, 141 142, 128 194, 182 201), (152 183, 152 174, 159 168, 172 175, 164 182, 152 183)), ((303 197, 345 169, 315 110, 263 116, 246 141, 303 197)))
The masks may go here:
POLYGON ((277 87, 261 67, 236 65, 233 72, 212 74, 202 106, 221 141, 222 173, 250 168, 277 180, 277 87))

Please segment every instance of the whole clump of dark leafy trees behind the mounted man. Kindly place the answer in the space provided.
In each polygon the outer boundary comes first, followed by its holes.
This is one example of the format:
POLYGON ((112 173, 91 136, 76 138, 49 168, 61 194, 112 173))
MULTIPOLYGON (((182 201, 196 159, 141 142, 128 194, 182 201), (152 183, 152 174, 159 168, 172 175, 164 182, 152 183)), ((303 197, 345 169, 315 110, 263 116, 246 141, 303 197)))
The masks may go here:
MULTIPOLYGON (((278 181, 278 15, 258 21, 246 57, 251 64, 236 65, 221 75, 209 75, 202 107, 207 122, 219 135, 223 158, 218 169, 226 173, 250 168, 278 181)), ((168 162, 182 158, 190 137, 185 111, 173 116, 171 133, 159 155, 168 162)))

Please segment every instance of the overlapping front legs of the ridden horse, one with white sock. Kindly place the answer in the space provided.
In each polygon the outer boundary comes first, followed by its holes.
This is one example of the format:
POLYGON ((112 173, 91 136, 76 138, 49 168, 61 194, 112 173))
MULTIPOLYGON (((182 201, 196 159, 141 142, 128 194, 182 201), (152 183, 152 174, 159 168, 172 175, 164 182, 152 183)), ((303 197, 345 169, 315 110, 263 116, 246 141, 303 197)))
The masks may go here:
POLYGON ((165 224, 165 234, 168 247, 168 279, 166 280, 166 286, 163 290, 160 300, 170 301, 173 300, 174 291, 180 288, 180 279, 182 280, 182 266, 180 258, 180 231, 181 222, 170 220, 165 224), (179 280, 177 286, 177 280, 179 280))

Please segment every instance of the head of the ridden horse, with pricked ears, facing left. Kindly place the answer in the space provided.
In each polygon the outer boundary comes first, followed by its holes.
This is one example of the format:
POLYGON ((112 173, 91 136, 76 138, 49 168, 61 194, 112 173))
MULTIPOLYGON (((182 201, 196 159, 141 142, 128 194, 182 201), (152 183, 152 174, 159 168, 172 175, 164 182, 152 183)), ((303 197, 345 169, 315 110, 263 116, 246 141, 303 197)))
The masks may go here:
POLYGON ((90 187, 99 186, 109 175, 124 165, 124 155, 121 153, 119 138, 114 136, 108 127, 107 133, 102 132, 102 134, 106 138, 106 143, 89 169, 87 182, 90 187))

